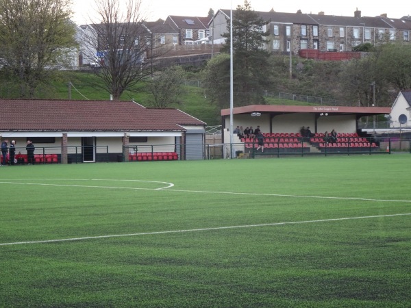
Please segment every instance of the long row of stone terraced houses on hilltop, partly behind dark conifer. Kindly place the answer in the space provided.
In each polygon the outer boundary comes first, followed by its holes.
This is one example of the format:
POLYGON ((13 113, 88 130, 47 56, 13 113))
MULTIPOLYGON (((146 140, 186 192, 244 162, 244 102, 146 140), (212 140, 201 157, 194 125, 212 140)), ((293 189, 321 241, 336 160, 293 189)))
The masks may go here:
MULTIPOLYGON (((381 44, 390 40, 410 41, 411 17, 388 18, 361 16, 356 10, 353 16, 303 14, 281 12, 257 12, 266 21, 269 43, 265 48, 271 53, 298 54, 303 49, 319 51, 353 51, 354 47, 369 42, 381 44)), ((227 32, 230 10, 219 10, 208 24, 214 43, 223 43, 221 36, 227 32)), ((235 12, 233 12, 235 18, 235 12)))

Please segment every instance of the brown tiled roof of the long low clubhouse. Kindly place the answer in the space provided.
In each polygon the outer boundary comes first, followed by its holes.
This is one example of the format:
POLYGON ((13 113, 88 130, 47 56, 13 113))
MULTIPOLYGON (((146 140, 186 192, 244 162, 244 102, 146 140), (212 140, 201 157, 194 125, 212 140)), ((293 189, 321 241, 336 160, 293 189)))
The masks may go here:
POLYGON ((132 101, 0 99, 0 131, 186 131, 201 120, 132 101))

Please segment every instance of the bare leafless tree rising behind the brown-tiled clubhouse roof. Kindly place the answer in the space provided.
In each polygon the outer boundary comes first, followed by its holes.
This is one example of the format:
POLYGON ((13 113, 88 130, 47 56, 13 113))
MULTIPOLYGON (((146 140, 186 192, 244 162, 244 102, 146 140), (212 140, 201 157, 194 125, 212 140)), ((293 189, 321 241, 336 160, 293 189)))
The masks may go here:
POLYGON ((97 76, 114 100, 152 75, 154 34, 145 26, 142 0, 97 0, 99 23, 89 26, 86 57, 95 62, 97 76))

